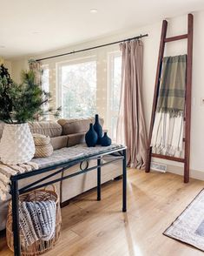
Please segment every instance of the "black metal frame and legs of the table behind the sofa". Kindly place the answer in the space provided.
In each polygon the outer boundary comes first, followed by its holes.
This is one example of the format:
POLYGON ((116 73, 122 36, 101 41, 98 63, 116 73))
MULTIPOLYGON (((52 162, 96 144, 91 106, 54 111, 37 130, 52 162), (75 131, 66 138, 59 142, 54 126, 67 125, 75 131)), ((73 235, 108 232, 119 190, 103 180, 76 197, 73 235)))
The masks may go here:
POLYGON ((69 160, 66 163, 49 166, 47 168, 42 168, 38 170, 34 170, 31 172, 24 172, 19 173, 15 176, 11 176, 11 185, 10 185, 10 194, 12 200, 12 218, 13 218, 13 238, 14 238, 14 255, 20 256, 21 255, 21 246, 20 246, 20 234, 19 234, 19 195, 30 192, 35 189, 42 188, 46 185, 51 185, 53 183, 63 181, 63 179, 69 179, 80 175, 85 172, 90 172, 97 169, 97 200, 101 200, 101 167, 105 165, 109 165, 115 161, 122 160, 122 212, 127 211, 127 170, 126 170, 126 148, 124 146, 118 147, 116 149, 107 150, 104 152, 96 153, 94 155, 82 158, 76 158, 74 160, 69 160), (106 162, 102 162, 102 158, 104 156, 109 156, 106 158, 106 162), (82 163, 83 161, 89 161, 91 159, 96 159, 97 165, 89 167, 86 166, 85 169, 81 169, 78 172, 71 173, 66 176, 62 176, 58 179, 53 179, 46 181, 51 177, 59 173, 63 173, 64 171, 68 170, 70 167, 82 163), (21 179, 27 179, 38 174, 55 171, 50 173, 49 175, 43 177, 42 179, 37 179, 36 181, 30 183, 30 185, 25 185, 19 189, 18 182, 21 179), (46 181, 46 182, 44 182, 46 181))

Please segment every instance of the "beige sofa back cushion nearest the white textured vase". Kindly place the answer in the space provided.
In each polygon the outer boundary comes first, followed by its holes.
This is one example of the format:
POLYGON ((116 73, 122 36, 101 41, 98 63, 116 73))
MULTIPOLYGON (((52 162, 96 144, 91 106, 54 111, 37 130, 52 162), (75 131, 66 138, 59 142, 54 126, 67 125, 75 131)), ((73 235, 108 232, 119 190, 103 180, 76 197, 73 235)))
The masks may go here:
POLYGON ((62 126, 54 121, 30 122, 29 125, 32 133, 43 134, 50 138, 61 136, 63 131, 62 126))

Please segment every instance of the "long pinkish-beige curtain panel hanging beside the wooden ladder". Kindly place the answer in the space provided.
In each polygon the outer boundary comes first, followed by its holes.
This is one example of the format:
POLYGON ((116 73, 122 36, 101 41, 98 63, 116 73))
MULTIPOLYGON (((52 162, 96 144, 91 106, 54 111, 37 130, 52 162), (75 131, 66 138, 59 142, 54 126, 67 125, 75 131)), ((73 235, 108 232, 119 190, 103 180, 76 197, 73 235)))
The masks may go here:
POLYGON ((122 91, 117 123, 117 143, 128 147, 127 163, 144 168, 148 147, 142 107, 143 45, 140 40, 120 44, 122 91))

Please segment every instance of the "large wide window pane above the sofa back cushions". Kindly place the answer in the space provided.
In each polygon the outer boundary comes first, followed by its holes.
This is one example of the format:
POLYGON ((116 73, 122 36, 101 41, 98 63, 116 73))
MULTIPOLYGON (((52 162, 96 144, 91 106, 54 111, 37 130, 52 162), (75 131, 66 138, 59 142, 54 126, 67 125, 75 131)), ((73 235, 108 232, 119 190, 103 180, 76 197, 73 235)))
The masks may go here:
POLYGON ((93 58, 59 66, 63 118, 94 116, 96 112, 96 61, 93 58))

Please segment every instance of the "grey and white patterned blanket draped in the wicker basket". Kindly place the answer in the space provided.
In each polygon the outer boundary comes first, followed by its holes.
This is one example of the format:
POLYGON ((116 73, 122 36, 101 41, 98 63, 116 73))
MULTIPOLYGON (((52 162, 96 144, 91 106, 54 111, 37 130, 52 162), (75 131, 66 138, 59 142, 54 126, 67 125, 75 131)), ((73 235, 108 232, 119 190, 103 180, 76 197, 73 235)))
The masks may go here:
POLYGON ((56 202, 53 200, 22 202, 19 207, 23 242, 30 246, 38 239, 48 241, 56 231, 56 202))

